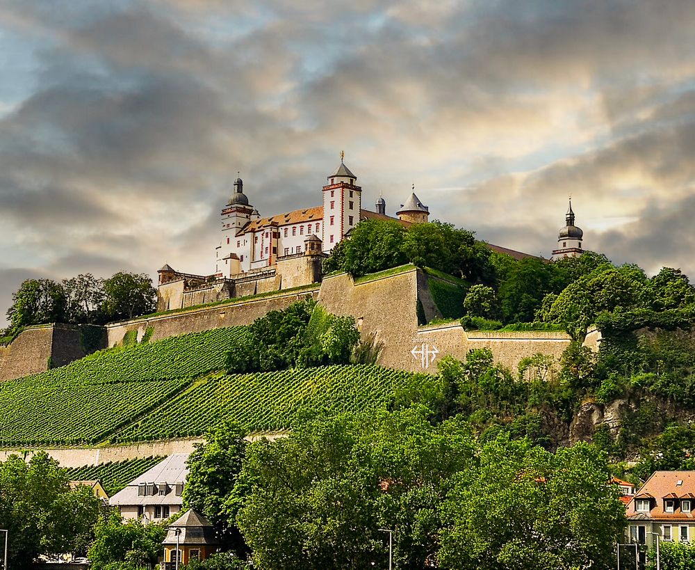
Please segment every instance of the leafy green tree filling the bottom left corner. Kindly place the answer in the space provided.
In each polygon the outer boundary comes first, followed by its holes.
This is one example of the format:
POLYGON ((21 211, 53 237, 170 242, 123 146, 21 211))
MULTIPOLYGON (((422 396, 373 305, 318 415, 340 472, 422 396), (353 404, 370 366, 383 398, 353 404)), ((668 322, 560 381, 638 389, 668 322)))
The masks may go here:
POLYGON ((75 551, 97 521, 101 500, 85 486, 70 490, 65 470, 45 452, 26 463, 0 463, 0 528, 9 530, 10 568, 28 568, 40 554, 75 551))

